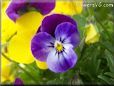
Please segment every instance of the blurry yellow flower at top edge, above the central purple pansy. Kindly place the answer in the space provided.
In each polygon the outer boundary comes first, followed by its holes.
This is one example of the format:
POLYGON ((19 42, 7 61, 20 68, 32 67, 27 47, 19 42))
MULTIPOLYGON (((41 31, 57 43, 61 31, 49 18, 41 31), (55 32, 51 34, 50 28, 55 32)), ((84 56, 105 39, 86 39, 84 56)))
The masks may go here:
POLYGON ((53 12, 67 15, 80 14, 83 9, 83 0, 56 0, 53 12))

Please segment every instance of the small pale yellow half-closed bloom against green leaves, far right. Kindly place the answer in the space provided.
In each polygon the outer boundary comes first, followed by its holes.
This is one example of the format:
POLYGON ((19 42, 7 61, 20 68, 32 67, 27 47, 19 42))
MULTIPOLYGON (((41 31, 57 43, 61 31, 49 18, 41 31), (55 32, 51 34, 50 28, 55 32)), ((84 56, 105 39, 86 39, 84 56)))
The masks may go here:
POLYGON ((92 44, 99 41, 100 34, 97 32, 93 24, 89 24, 87 26, 85 34, 86 34, 86 38, 85 38, 86 44, 92 44))

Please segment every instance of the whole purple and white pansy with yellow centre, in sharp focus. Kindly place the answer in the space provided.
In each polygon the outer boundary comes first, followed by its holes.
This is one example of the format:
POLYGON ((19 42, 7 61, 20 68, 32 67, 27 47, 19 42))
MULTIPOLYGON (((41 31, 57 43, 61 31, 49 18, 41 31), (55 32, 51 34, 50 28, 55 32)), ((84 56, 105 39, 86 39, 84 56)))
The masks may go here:
POLYGON ((53 72, 65 72, 77 62, 73 48, 79 42, 76 22, 69 16, 53 14, 42 21, 40 30, 31 41, 31 51, 53 72))

